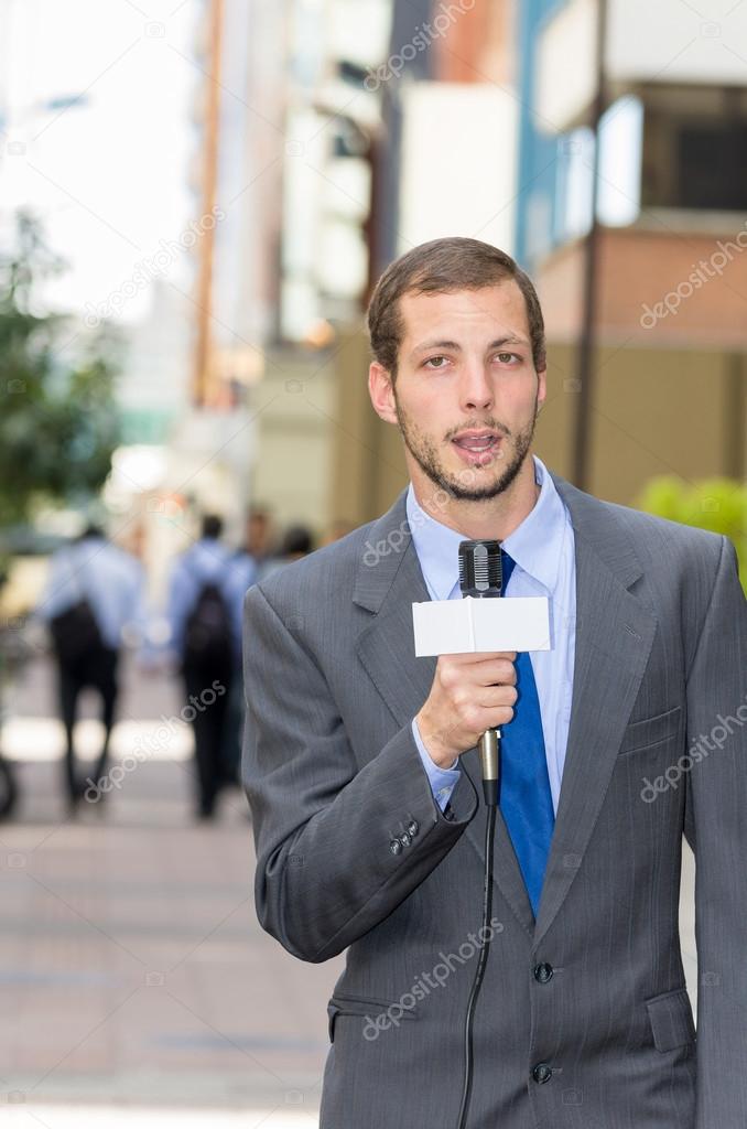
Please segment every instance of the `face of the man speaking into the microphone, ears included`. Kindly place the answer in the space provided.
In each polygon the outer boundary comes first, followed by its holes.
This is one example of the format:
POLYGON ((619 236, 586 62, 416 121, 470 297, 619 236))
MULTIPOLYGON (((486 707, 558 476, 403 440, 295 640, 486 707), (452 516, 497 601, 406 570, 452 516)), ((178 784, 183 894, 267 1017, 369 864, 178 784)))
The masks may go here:
POLYGON ((376 362, 378 414, 396 422, 415 487, 481 501, 513 482, 546 394, 524 295, 513 281, 401 298, 405 331, 394 385, 376 362))

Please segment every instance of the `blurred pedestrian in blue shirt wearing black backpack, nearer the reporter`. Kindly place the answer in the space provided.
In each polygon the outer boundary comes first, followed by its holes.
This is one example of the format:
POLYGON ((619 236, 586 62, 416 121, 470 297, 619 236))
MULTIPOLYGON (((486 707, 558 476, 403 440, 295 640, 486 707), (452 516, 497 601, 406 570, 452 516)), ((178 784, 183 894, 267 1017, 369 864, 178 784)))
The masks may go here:
POLYGON ((193 733, 197 770, 196 815, 214 815, 216 799, 231 767, 226 762, 228 701, 234 676, 230 552, 220 541, 223 523, 202 519, 201 536, 172 574, 168 620, 170 647, 178 658, 193 733))

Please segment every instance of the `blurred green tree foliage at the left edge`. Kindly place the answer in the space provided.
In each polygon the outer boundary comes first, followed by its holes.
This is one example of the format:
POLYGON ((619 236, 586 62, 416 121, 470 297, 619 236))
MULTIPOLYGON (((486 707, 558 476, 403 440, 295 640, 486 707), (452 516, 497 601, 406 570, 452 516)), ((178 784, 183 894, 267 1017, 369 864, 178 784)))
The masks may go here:
POLYGON ((20 213, 16 246, 0 256, 0 527, 41 502, 90 498, 117 444, 111 332, 87 339, 36 305, 39 282, 61 270, 20 213))

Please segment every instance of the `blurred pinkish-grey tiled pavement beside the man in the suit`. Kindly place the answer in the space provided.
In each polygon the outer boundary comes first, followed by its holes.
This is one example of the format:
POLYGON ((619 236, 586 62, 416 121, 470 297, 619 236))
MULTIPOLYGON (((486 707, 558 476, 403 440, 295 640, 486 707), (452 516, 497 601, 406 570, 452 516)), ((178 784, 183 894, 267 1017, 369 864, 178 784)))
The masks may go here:
MULTIPOLYGON (((126 683, 120 751, 179 708, 162 676, 129 671, 126 683)), ((24 758, 24 800, 0 824, 2 1124, 311 1129, 342 959, 304 964, 261 930, 244 797, 228 795, 214 824, 192 822, 182 734, 104 809, 69 822, 43 664, 15 706, 6 745, 24 758)))

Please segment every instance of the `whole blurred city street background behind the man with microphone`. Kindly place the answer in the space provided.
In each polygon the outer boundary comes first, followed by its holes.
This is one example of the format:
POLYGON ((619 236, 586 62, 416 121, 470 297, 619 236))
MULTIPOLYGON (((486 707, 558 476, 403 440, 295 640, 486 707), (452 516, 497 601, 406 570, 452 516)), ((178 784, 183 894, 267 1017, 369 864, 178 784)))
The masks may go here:
POLYGON ((398 255, 516 257, 537 454, 747 585, 745 138, 733 0, 0 0, 5 1123, 318 1122, 344 956, 256 919, 241 601, 407 482, 398 255))

